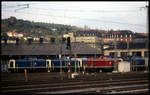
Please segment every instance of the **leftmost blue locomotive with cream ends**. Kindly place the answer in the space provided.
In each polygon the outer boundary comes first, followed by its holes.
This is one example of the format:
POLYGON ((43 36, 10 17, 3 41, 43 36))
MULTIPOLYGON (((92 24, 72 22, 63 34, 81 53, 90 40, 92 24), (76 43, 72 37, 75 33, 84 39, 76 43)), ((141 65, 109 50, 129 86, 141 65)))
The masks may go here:
POLYGON ((9 60, 8 70, 11 72, 23 72, 24 69, 28 71, 45 71, 51 68, 50 59, 36 59, 36 58, 25 58, 9 60))

